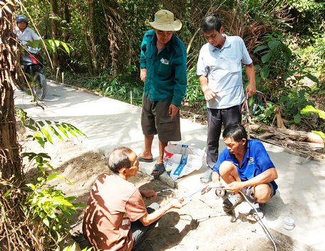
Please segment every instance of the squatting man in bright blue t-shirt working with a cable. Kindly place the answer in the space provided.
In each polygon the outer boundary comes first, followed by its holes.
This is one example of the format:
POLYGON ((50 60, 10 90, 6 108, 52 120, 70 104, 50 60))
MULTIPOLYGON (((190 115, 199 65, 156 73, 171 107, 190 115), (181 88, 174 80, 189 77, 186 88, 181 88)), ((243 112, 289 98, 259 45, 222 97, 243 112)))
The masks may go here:
MULTIPOLYGON (((242 202, 245 193, 254 202, 259 216, 264 215, 264 203, 267 203, 277 190, 274 180, 278 177, 269 154, 263 144, 256 139, 247 139, 247 132, 242 124, 230 124, 222 133, 227 148, 221 153, 212 172, 212 181, 222 186, 220 177, 225 181, 226 193, 223 208, 230 213, 242 202)), ((218 193, 218 190, 216 193, 218 193)), ((217 194, 218 195, 218 194, 217 194)), ((257 220, 254 210, 249 212, 250 220, 257 220)))

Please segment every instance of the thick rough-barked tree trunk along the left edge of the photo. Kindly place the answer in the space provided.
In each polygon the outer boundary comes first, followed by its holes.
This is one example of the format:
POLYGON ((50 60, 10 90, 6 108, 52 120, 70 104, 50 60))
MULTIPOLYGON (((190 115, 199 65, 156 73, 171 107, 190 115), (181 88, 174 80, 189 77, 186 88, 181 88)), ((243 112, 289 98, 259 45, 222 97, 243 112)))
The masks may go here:
POLYGON ((11 14, 3 11, 0 18, 0 178, 21 181, 22 162, 17 141, 16 119, 14 115, 14 85, 20 78, 17 74, 17 50, 11 14))

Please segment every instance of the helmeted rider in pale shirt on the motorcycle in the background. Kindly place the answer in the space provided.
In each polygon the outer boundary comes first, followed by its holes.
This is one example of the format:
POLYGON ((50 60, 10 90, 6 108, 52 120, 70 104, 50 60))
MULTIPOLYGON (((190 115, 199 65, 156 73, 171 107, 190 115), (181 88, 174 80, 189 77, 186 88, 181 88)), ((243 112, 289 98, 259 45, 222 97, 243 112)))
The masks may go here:
POLYGON ((23 46, 28 45, 28 42, 39 41, 41 38, 33 31, 33 29, 27 27, 29 25, 29 18, 24 15, 16 16, 16 27, 14 33, 23 46))

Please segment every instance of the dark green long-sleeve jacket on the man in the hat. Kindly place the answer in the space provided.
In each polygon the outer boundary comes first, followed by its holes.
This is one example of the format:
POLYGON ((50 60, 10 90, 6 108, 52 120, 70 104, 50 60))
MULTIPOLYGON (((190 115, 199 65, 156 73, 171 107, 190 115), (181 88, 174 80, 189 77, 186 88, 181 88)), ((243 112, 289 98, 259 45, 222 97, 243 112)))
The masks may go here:
POLYGON ((149 94, 153 101, 172 100, 173 105, 180 107, 187 85, 184 43, 173 34, 157 53, 156 42, 155 31, 150 30, 141 43, 140 68, 147 69, 145 95, 149 94))

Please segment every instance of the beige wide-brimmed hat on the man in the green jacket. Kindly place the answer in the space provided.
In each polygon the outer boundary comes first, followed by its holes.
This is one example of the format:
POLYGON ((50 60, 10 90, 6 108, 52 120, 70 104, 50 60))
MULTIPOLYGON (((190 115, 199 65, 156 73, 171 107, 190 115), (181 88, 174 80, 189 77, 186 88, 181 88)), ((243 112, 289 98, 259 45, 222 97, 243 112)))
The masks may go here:
POLYGON ((174 14, 165 9, 155 13, 155 21, 149 22, 150 26, 160 31, 180 31, 182 23, 177 19, 174 20, 174 14))

